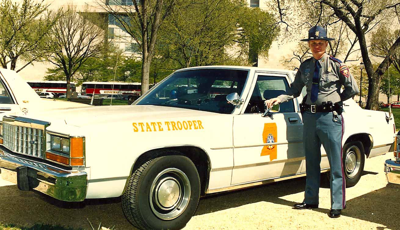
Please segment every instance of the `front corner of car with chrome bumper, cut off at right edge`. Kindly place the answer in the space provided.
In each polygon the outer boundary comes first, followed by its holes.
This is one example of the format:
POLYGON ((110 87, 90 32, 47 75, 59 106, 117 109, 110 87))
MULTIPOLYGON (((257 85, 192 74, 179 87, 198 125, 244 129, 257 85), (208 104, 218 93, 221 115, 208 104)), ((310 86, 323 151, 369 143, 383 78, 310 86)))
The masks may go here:
POLYGON ((393 184, 400 184, 400 131, 394 138, 394 160, 385 161, 386 181, 393 184))

